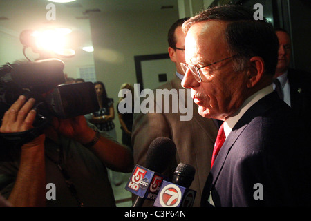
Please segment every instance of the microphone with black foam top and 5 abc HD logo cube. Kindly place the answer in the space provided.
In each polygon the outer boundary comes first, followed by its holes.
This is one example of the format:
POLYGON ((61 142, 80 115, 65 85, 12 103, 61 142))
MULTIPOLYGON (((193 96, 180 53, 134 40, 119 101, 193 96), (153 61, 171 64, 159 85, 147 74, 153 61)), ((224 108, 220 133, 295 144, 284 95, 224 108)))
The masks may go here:
POLYGON ((151 142, 145 166, 136 165, 125 189, 137 195, 132 207, 141 207, 144 200, 156 200, 164 177, 160 174, 167 169, 176 155, 176 145, 168 137, 158 137, 151 142))

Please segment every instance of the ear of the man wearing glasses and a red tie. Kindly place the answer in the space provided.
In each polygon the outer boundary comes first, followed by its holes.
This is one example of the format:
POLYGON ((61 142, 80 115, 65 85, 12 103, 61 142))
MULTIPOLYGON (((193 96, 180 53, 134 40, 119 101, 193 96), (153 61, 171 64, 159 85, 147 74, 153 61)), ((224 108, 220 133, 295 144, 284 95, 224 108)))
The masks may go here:
POLYGON ((262 57, 252 57, 249 59, 249 70, 247 72, 247 87, 253 88, 265 73, 265 61, 262 57))

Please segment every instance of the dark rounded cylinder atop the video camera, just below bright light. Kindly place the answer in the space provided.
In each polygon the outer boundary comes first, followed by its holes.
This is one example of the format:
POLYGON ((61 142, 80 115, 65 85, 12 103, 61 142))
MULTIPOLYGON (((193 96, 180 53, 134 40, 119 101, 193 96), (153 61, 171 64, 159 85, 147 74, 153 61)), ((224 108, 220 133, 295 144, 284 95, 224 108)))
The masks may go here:
POLYGON ((21 64, 12 64, 10 73, 1 77, 1 82, 14 82, 20 88, 54 88, 65 82, 64 62, 59 59, 45 59, 21 64))

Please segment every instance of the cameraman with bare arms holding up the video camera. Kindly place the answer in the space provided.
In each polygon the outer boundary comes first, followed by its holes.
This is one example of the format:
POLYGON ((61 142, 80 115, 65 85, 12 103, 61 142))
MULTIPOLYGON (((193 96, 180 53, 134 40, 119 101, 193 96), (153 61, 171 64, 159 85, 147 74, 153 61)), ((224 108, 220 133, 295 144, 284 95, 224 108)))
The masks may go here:
MULTIPOLYGON (((34 104, 21 95, 3 116, 0 132, 33 128, 34 104)), ((0 191, 12 206, 115 206, 106 166, 124 173, 133 169, 131 150, 97 136, 84 116, 55 117, 39 137, 0 151, 0 191), (47 184, 55 185, 55 193, 47 184)))

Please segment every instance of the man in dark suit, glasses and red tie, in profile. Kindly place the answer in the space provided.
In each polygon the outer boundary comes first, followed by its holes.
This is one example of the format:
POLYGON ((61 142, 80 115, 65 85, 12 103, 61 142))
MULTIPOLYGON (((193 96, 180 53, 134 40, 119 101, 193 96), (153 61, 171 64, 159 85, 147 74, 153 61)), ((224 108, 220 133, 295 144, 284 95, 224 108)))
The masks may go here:
POLYGON ((191 88, 200 115, 224 121, 201 206, 303 206, 310 197, 308 148, 296 137, 291 108, 272 88, 278 39, 270 23, 253 15, 219 6, 182 26, 182 86, 191 88))

